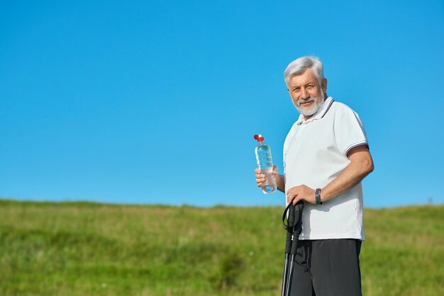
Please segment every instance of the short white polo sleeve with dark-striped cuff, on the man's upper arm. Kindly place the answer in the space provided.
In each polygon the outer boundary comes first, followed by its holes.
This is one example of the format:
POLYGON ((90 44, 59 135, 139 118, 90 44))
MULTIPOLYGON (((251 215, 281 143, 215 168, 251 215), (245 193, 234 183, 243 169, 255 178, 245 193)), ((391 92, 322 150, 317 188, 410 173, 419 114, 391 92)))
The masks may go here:
POLYGON ((350 108, 339 110, 335 116, 335 139, 338 149, 347 156, 350 149, 367 145, 367 135, 359 115, 350 108))

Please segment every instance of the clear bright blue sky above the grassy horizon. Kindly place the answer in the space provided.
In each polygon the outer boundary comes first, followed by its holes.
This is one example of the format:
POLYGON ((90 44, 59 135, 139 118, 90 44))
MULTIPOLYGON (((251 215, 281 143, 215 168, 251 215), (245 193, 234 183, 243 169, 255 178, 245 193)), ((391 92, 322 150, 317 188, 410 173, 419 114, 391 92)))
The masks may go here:
POLYGON ((442 0, 5 2, 0 197, 283 205, 252 135, 282 173, 283 72, 317 55, 367 130, 365 205, 444 203, 443 52, 442 0))

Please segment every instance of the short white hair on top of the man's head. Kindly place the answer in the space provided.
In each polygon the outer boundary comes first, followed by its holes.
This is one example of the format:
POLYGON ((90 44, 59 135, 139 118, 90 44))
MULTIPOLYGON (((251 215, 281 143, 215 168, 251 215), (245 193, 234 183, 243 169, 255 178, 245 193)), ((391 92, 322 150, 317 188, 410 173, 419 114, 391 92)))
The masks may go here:
POLYGON ((284 80, 285 84, 287 84, 287 88, 290 79, 292 79, 294 75, 302 74, 309 68, 313 70, 314 76, 316 76, 319 85, 321 85, 323 79, 323 65, 318 57, 312 55, 309 57, 299 57, 287 66, 287 69, 284 71, 284 80))

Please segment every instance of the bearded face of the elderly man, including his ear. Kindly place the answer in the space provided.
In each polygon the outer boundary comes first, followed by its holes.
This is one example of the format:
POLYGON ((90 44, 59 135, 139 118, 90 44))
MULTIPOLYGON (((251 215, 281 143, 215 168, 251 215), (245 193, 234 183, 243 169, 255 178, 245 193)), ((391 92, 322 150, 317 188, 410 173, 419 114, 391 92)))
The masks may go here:
POLYGON ((294 106, 307 120, 318 111, 324 101, 327 79, 324 78, 319 85, 313 70, 306 69, 304 73, 292 76, 288 86, 294 106))

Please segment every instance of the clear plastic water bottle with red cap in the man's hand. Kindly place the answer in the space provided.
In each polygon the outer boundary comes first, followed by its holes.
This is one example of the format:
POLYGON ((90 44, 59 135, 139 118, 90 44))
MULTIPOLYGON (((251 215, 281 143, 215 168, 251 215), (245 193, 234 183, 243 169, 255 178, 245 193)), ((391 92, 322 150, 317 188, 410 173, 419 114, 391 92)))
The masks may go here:
POLYGON ((273 176, 272 149, 265 144, 262 135, 255 135, 257 146, 255 148, 257 166, 261 173, 265 174, 265 183, 262 184, 262 192, 273 193, 276 190, 276 181, 273 176))

